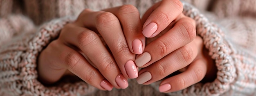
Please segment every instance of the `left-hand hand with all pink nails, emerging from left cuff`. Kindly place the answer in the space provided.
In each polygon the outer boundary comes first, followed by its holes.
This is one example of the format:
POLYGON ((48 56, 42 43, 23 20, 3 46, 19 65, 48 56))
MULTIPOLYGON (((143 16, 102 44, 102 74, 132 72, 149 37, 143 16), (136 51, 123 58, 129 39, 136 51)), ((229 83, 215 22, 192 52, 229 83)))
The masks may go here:
POLYGON ((71 72, 101 90, 125 89, 127 78, 138 76, 135 54, 141 54, 144 46, 136 7, 85 9, 42 51, 39 78, 51 84, 71 72))

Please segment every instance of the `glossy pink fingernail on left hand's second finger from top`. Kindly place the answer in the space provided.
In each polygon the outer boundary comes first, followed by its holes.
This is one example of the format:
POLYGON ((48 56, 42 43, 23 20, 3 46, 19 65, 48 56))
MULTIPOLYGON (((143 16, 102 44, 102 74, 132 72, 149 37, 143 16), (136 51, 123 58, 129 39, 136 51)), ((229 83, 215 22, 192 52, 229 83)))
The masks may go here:
POLYGON ((136 65, 132 60, 128 60, 125 64, 126 72, 129 76, 129 78, 137 78, 138 77, 138 70, 136 65))

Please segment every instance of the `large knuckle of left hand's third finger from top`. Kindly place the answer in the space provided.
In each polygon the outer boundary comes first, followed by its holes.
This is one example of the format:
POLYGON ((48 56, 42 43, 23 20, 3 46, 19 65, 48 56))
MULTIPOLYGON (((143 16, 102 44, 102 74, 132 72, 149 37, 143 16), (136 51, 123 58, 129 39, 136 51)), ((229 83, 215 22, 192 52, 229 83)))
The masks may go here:
POLYGON ((96 43, 98 35, 93 31, 83 31, 78 35, 78 46, 86 47, 92 43, 96 43))

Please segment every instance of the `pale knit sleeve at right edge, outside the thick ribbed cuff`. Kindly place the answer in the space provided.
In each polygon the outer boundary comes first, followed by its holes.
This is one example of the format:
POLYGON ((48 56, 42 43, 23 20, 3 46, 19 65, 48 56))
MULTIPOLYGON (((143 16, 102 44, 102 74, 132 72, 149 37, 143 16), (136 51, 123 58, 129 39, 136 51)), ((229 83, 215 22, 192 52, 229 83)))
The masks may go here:
MULTIPOLYGON (((232 17, 218 20, 224 27, 223 37, 230 43, 236 68, 235 82, 229 93, 237 96, 256 95, 256 18, 232 17)), ((229 93, 226 93, 227 95, 229 93)))

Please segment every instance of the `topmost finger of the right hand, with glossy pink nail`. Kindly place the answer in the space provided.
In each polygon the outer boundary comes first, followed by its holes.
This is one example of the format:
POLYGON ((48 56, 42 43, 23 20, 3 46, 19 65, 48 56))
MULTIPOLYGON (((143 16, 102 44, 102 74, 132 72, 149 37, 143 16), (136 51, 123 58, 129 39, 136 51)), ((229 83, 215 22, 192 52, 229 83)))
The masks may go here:
POLYGON ((162 0, 148 11, 142 20, 145 20, 142 33, 148 38, 163 31, 173 20, 182 13, 183 5, 180 0, 162 0))

